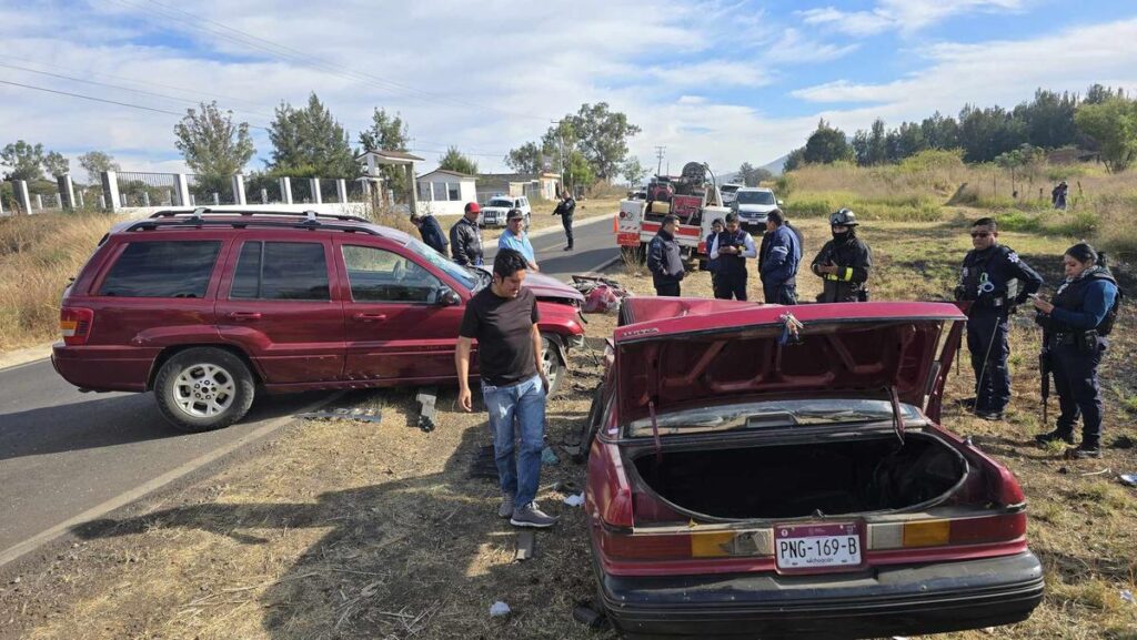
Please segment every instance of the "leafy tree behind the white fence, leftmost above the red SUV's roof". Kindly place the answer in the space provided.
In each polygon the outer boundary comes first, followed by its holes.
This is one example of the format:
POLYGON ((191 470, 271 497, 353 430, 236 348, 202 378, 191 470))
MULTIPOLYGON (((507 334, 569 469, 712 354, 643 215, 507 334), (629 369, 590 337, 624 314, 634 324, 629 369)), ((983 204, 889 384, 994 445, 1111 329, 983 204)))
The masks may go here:
POLYGON ((186 109, 182 122, 174 125, 177 149, 185 165, 202 176, 219 178, 241 173, 257 150, 249 135, 249 123, 233 124, 233 111, 222 111, 217 102, 201 102, 198 109, 186 109))

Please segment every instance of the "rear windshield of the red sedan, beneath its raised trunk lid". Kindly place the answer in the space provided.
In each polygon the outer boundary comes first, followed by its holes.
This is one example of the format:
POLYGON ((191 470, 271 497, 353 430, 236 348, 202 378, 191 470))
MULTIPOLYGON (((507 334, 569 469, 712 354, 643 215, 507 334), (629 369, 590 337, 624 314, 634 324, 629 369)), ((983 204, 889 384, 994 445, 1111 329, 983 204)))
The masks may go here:
MULTIPOLYGON (((920 412, 911 405, 902 402, 901 413, 905 423, 923 423, 920 412)), ((698 407, 658 416, 656 424, 659 435, 669 435, 891 419, 893 405, 888 400, 810 398, 698 407)), ((631 438, 652 434, 652 418, 638 419, 628 426, 631 438)))

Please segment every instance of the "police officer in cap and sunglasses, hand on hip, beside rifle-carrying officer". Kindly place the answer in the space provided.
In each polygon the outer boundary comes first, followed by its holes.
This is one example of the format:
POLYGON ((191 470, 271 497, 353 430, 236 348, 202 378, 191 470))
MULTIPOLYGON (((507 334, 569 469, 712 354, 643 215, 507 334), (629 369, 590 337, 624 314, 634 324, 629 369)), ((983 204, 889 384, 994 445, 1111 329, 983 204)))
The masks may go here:
POLYGON ((1010 247, 998 243, 998 224, 993 218, 972 223, 971 246, 955 288, 956 300, 971 302, 968 350, 976 373, 976 398, 964 400, 964 405, 984 419, 999 421, 1011 401, 1006 318, 1013 307, 1038 291, 1043 277, 1010 247))

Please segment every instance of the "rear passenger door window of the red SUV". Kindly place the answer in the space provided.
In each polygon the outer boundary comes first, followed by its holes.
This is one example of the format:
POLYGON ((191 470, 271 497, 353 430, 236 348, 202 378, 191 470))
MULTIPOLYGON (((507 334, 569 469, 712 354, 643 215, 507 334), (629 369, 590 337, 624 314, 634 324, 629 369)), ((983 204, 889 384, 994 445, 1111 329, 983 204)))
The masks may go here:
POLYGON ((246 242, 236 263, 233 299, 327 300, 327 260, 315 242, 246 242))

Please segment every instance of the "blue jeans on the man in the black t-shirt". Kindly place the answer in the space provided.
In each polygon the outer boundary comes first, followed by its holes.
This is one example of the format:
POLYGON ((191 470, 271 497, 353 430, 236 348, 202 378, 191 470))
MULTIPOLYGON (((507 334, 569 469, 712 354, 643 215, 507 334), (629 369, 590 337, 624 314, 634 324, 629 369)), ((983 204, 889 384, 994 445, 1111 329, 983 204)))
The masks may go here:
POLYGON ((501 492, 514 496, 518 507, 537 497, 541 475, 541 449, 545 448, 545 389, 540 376, 511 387, 482 382, 482 399, 490 414, 493 458, 501 492), (514 457, 514 425, 521 444, 514 457))

